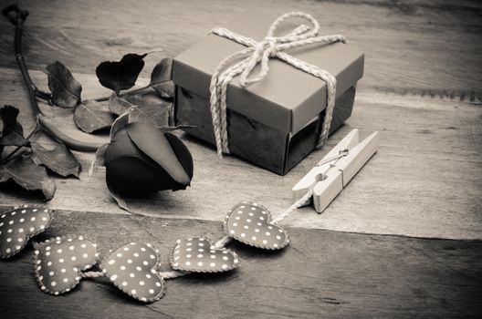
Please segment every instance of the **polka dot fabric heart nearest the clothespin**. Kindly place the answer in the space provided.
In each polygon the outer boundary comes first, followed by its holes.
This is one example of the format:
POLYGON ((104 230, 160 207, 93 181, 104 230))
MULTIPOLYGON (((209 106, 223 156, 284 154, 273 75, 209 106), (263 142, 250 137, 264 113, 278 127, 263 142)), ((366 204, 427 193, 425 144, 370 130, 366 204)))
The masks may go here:
POLYGON ((271 214, 257 203, 237 204, 225 217, 225 233, 257 248, 277 250, 288 245, 287 233, 271 222, 271 214))

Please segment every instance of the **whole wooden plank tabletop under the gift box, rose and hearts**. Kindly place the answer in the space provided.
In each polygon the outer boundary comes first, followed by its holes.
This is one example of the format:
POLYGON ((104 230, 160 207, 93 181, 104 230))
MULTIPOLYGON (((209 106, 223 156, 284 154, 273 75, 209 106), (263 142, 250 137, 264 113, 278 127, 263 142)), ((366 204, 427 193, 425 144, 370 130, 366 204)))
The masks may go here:
MULTIPOLYGON (((6 4, 5 4, 6 5, 6 4)), ((2 6, 5 6, 2 5, 2 6)), ((221 221, 237 201, 279 212, 290 189, 353 128, 381 133, 378 153, 319 215, 307 207, 283 222, 291 243, 266 253, 231 243, 241 265, 222 275, 167 282, 159 302, 138 304, 105 280, 85 280, 61 297, 40 292, 30 248, 0 262, 0 316, 116 318, 468 317, 482 314, 482 5, 471 1, 225 2, 149 0, 20 1, 30 11, 25 53, 34 82, 63 62, 83 98, 108 95, 95 67, 128 52, 161 46, 146 58, 140 83, 155 63, 200 40, 213 26, 257 6, 279 14, 306 11, 323 33, 341 33, 366 53, 355 108, 328 146, 279 177, 243 160, 217 160, 212 147, 182 136, 194 155, 188 190, 130 200, 145 216, 121 211, 105 187, 104 170, 89 177, 91 154, 76 152, 80 179, 59 179, 46 205, 56 211, 47 236, 85 234, 105 254, 125 242, 152 242, 169 269, 175 239, 223 236, 221 221)), ((32 129, 26 90, 13 54, 13 27, 0 21, 0 101, 21 109, 32 129)), ((43 105, 71 136, 71 112, 43 105)), ((11 184, 0 187, 1 209, 42 198, 11 184)))

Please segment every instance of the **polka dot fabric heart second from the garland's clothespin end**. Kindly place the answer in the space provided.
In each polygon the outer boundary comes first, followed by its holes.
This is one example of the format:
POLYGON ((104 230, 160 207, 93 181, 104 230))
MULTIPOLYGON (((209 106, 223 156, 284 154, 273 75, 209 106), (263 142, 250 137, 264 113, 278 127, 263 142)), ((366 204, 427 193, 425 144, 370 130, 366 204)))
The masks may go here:
POLYGON ((239 262, 235 252, 215 249, 204 238, 178 240, 173 249, 173 269, 194 273, 219 273, 235 269, 239 262))

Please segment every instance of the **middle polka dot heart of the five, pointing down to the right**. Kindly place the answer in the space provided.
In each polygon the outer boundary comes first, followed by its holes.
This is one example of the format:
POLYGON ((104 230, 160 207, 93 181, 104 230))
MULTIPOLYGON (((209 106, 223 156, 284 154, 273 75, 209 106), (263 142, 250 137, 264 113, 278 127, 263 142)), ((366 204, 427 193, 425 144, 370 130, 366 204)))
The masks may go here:
POLYGON ((164 283, 157 273, 158 251, 150 243, 131 242, 113 252, 100 269, 122 292, 144 303, 164 295, 164 283))

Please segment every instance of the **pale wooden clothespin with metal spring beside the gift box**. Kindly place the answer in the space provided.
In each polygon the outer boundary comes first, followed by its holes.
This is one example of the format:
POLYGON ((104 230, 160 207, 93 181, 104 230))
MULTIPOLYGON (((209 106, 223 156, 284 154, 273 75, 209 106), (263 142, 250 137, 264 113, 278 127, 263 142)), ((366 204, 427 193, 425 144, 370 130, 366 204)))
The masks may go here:
MULTIPOLYGON (((293 200, 299 201, 313 190, 315 211, 321 213, 355 174, 370 160, 379 147, 378 132, 359 142, 358 129, 353 129, 341 142, 309 170, 293 187, 293 200)), ((308 205, 310 199, 301 206, 308 205)))

